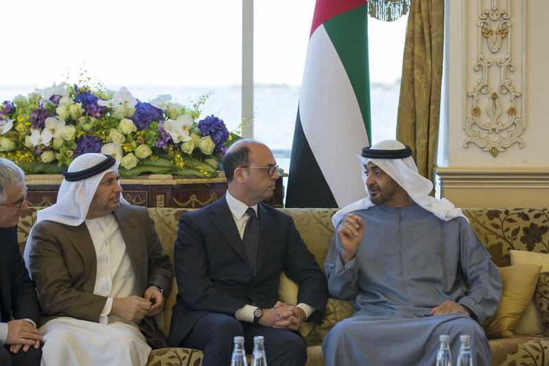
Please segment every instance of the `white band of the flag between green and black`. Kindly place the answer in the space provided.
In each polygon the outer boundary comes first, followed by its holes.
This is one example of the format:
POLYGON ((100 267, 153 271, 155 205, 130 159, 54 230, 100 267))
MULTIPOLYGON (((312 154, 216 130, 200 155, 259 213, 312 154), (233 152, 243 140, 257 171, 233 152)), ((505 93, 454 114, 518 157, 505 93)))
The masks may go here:
POLYGON ((339 207, 365 197, 355 155, 366 127, 341 60, 324 25, 309 40, 299 113, 303 133, 339 207))

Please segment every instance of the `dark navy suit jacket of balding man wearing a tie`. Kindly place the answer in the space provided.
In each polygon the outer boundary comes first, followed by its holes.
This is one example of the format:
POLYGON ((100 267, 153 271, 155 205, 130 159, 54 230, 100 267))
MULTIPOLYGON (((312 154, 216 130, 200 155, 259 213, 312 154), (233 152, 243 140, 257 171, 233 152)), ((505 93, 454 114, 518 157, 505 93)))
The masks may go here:
POLYGON ((299 284, 298 304, 316 308, 307 320, 323 315, 328 298, 326 279, 294 221, 262 203, 257 211, 260 240, 255 276, 250 273, 225 196, 181 216, 174 247, 179 293, 173 308, 170 345, 178 345, 207 312, 234 317, 246 304, 272 308, 278 299, 282 271, 299 284))

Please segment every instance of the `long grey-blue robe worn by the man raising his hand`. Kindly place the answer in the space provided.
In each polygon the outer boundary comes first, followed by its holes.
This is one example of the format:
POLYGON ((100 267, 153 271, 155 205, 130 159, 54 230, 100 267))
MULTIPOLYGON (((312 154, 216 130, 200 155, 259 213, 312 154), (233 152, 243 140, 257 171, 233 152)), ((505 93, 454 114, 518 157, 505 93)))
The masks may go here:
POLYGON ((330 294, 355 306, 324 339, 326 365, 435 365, 441 334, 450 336, 454 363, 460 334, 469 334, 474 365, 491 365, 479 323, 498 308, 502 283, 467 220, 444 221, 415 204, 355 214, 364 220, 356 258, 343 266, 336 233, 325 262, 330 294), (478 322, 429 314, 446 300, 467 306, 478 322))

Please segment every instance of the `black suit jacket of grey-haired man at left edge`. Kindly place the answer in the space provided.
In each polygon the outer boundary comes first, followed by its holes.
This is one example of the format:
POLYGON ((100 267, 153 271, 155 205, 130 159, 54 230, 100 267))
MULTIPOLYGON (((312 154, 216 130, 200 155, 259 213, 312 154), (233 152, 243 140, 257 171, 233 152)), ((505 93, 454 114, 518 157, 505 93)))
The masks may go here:
POLYGON ((17 244, 17 228, 0 228, 0 316, 3 323, 32 319, 38 323, 36 289, 17 244))

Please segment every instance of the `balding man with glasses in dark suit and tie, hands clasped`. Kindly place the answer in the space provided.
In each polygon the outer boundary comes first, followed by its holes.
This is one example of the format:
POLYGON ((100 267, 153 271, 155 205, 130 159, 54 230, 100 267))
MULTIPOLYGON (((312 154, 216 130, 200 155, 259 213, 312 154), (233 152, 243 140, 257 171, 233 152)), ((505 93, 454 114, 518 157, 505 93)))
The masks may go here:
POLYGON ((223 166, 226 194, 179 221, 169 343, 203 350, 204 366, 229 365, 234 336, 244 336, 251 353, 253 336, 262 335, 269 365, 303 365, 307 350, 296 330, 323 315, 323 273, 292 218, 261 203, 279 178, 270 149, 237 141, 223 166), (282 271, 299 285, 297 306, 277 301, 282 271))

